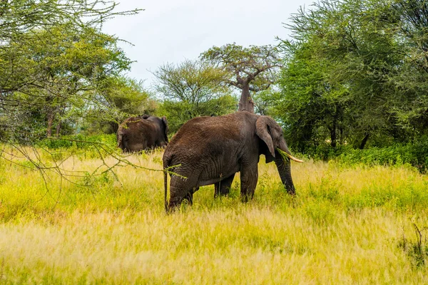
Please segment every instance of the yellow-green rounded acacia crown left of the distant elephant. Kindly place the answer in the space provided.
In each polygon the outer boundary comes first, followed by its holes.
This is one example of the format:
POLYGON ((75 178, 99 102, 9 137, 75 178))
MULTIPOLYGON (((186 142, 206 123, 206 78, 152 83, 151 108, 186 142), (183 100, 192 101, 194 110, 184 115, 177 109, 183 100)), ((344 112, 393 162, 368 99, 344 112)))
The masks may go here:
MULTIPOLYGON (((131 61, 117 48, 116 38, 91 28, 77 33, 67 26, 54 26, 34 35, 41 41, 24 43, 7 51, 9 54, 28 55, 25 68, 34 70, 31 71, 34 76, 27 74, 33 81, 4 96, 5 103, 6 100, 14 101, 18 108, 4 105, 3 115, 7 119, 11 118, 11 112, 26 113, 28 108, 32 108, 41 115, 39 119, 45 120, 46 135, 50 137, 55 124, 59 134, 61 117, 73 105, 96 106, 99 102, 97 94, 100 94, 102 86, 106 86, 103 81, 119 76, 121 71, 129 68, 131 61)), ((16 123, 24 121, 9 120, 7 125, 13 127, 16 123)), ((40 136, 41 133, 34 135, 40 136)))

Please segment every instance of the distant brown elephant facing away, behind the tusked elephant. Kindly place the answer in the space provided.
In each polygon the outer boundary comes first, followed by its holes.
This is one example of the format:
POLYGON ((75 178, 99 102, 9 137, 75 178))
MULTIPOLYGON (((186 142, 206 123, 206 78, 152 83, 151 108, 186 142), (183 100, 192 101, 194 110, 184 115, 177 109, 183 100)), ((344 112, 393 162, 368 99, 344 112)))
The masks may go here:
POLYGON ((138 152, 168 145, 168 121, 152 115, 131 117, 123 121, 117 133, 123 152, 138 152))

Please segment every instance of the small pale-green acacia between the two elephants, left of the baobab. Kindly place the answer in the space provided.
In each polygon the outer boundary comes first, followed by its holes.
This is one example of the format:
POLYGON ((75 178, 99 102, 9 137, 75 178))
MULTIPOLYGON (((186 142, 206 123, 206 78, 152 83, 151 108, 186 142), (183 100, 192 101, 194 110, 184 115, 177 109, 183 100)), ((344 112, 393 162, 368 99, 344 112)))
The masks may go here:
POLYGON ((155 88, 163 97, 160 112, 167 115, 172 132, 200 115, 232 112, 235 98, 223 84, 228 73, 203 61, 165 64, 153 73, 155 88))

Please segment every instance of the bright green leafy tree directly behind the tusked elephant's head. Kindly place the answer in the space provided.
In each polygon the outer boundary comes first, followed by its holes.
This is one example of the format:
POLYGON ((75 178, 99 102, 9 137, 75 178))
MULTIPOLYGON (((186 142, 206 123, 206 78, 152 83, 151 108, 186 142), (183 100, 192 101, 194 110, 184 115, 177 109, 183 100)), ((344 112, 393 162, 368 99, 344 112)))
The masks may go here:
POLYGON ((270 99, 275 102, 272 115, 283 122, 287 142, 298 151, 317 147, 325 138, 335 147, 345 140, 338 130, 352 106, 347 88, 327 81, 326 70, 333 63, 316 58, 311 43, 298 48, 284 43, 283 48, 290 61, 280 75, 280 93, 270 99))

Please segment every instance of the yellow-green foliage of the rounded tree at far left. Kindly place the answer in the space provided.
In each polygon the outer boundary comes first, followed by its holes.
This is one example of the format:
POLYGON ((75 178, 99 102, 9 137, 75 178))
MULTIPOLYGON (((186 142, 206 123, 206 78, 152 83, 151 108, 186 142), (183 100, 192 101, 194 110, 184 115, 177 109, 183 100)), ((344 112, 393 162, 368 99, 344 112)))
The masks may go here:
MULTIPOLYGON (((16 128, 12 136, 21 141, 19 135, 23 125, 29 129, 28 133, 37 137, 50 136, 53 128, 56 127, 59 134, 61 126, 81 120, 88 105, 91 109, 96 106, 98 110, 105 110, 101 96, 90 90, 105 85, 103 81, 111 81, 109 78, 117 76, 130 64, 117 48, 117 38, 96 31, 76 33, 54 27, 40 31, 37 36, 49 40, 41 44, 31 41, 19 48, 26 49, 24 53, 37 54, 25 64, 34 66, 34 72, 40 77, 35 79, 35 85, 22 87, 6 96, 11 104, 5 105, 3 110, 4 124, 16 128)), ((10 49, 6 51, 10 52, 10 49)))

